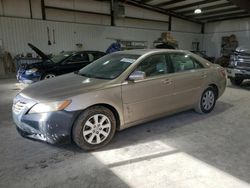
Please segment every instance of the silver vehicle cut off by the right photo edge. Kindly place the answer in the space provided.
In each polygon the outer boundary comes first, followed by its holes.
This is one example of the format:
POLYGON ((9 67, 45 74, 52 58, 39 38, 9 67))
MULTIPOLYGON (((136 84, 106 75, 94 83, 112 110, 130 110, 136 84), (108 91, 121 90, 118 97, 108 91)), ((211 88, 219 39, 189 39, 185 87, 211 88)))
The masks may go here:
POLYGON ((250 79, 250 48, 238 47, 230 57, 227 75, 233 85, 250 79))

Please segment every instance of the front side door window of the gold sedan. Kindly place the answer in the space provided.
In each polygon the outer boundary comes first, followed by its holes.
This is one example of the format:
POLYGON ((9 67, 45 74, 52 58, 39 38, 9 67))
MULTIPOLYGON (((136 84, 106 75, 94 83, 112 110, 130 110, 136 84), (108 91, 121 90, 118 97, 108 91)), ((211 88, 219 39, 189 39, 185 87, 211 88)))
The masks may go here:
POLYGON ((136 68, 136 71, 145 72, 146 77, 166 74, 169 72, 166 56, 164 54, 157 54, 146 58, 136 68))

